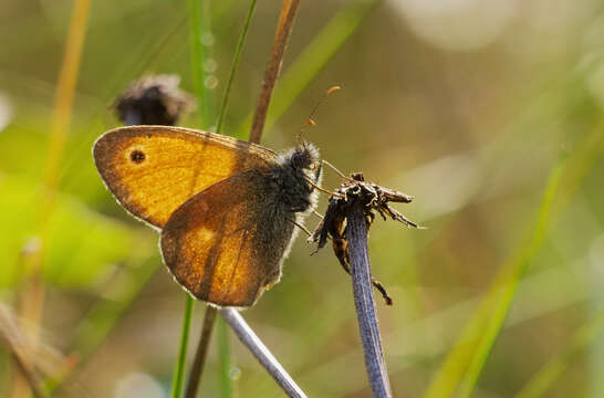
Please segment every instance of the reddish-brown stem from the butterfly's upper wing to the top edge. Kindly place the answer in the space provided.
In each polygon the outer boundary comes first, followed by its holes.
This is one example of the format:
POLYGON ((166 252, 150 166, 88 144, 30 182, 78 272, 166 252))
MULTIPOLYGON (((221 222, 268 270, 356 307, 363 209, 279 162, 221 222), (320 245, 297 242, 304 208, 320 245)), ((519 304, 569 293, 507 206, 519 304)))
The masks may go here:
POLYGON ((274 85, 277 84, 279 72, 281 71, 283 53, 288 44, 288 39, 293 27, 293 21, 298 12, 300 1, 301 0, 283 1, 283 8, 281 9, 281 15, 279 18, 279 24, 277 25, 277 33, 274 35, 274 43, 272 45, 267 70, 264 71, 262 90, 260 92, 256 114, 253 115, 252 119, 250 142, 254 144, 260 143, 260 137, 262 136, 262 129, 264 128, 264 122, 267 121, 267 113, 269 112, 272 92, 274 90, 274 85))

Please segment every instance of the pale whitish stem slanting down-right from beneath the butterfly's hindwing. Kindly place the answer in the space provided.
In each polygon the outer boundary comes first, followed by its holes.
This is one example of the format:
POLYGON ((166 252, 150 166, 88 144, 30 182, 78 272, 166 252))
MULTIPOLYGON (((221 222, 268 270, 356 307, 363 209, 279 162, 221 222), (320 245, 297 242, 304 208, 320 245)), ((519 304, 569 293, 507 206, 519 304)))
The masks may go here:
POLYGON ((220 315, 222 315, 222 318, 229 324, 237 337, 239 337, 241 343, 248 347, 277 384, 281 386, 288 397, 306 397, 267 346, 262 344, 260 338, 253 333, 238 311, 232 308, 222 308, 219 311, 220 315))

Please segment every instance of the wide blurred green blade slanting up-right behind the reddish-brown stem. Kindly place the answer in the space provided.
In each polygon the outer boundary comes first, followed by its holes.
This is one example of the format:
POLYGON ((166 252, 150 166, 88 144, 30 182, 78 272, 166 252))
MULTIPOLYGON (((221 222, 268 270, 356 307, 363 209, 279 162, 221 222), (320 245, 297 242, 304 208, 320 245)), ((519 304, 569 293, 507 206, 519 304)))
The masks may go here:
MULTIPOLYGON (((264 135, 291 106, 310 82, 319 74, 340 48, 356 32, 361 23, 377 4, 377 0, 353 2, 337 12, 319 32, 312 42, 298 56, 294 63, 283 74, 280 84, 273 93, 269 109, 264 135)), ((238 137, 243 137, 251 127, 253 113, 250 113, 237 130, 238 137)))

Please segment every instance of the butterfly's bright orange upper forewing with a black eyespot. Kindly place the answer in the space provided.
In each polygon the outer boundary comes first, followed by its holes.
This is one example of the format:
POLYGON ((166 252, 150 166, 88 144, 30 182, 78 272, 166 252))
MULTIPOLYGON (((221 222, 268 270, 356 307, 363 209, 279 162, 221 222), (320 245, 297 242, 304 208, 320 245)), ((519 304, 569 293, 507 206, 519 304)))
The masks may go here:
POLYGON ((162 228, 187 199, 232 175, 274 164, 264 147, 169 126, 131 126, 102 135, 93 148, 98 172, 132 214, 162 228))

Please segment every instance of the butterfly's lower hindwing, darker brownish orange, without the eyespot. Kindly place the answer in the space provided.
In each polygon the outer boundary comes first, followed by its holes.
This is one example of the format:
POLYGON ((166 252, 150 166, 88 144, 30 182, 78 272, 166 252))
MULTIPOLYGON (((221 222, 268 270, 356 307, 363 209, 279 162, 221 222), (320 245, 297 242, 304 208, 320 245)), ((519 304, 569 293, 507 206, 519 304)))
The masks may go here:
POLYGON ((174 212, 162 231, 164 262, 197 298, 250 306, 278 282, 293 241, 292 213, 270 206, 263 174, 249 170, 215 184, 174 212))

